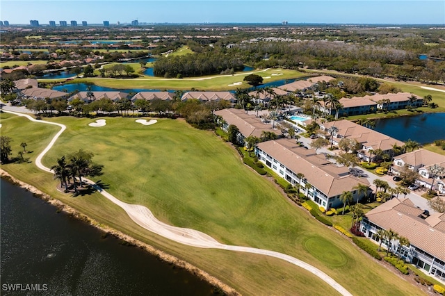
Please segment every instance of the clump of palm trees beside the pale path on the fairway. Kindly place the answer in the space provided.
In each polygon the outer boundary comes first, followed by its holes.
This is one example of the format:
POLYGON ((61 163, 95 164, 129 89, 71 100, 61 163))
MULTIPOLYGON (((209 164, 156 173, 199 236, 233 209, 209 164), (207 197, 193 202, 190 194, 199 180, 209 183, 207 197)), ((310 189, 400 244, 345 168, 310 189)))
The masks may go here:
POLYGON ((74 192, 77 193, 77 183, 83 187, 82 177, 103 174, 104 165, 92 162, 93 156, 92 152, 79 149, 79 151, 68 154, 67 157, 62 156, 57 159, 57 164, 51 167, 51 171, 54 173, 54 179, 60 180, 60 187, 65 188, 65 192, 68 192, 70 179, 72 179, 74 192))

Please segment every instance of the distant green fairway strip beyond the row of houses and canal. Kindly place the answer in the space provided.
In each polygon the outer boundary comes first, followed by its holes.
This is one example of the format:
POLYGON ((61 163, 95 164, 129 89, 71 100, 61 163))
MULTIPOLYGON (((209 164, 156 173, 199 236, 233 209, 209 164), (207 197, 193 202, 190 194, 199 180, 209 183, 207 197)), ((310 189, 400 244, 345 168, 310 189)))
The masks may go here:
MULTIPOLYGON (((280 79, 296 79, 307 74, 296 70, 288 69, 266 69, 254 71, 263 77, 265 82, 277 81, 280 79), (272 75, 281 74, 281 75, 272 75)), ((247 72, 250 73, 250 72, 247 72)), ((244 77, 248 75, 246 72, 238 72, 234 75, 215 75, 191 77, 184 79, 164 79, 162 77, 145 76, 139 79, 110 79, 110 78, 88 78, 74 79, 71 83, 94 83, 95 85, 107 88, 147 88, 161 90, 235 90, 236 88, 250 88, 251 85, 243 82, 244 77), (233 85, 238 82, 240 85, 233 85)), ((45 82, 57 81, 54 79, 44 79, 45 82)))

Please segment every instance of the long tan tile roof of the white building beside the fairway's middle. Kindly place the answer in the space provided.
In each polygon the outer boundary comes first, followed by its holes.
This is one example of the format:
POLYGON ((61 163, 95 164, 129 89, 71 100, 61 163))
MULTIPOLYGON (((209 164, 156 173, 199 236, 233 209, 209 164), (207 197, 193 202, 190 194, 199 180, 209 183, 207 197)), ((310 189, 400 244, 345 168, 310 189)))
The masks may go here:
POLYGON ((316 154, 314 149, 304 149, 294 141, 279 139, 261 142, 257 147, 292 172, 305 174, 305 179, 328 197, 350 191, 357 183, 369 186, 366 179, 351 176, 348 167, 334 165, 322 154, 316 154))

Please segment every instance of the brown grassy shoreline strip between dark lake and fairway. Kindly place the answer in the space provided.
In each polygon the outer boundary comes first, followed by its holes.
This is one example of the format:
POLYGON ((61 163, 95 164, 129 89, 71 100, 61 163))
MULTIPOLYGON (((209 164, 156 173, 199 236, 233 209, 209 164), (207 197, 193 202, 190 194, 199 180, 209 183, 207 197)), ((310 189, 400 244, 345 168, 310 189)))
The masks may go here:
POLYGON ((170 263, 177 268, 182 268, 184 270, 187 270, 188 272, 195 275, 199 279, 201 279, 203 281, 207 281, 207 283, 210 283, 211 286, 214 286, 215 288, 223 291, 223 293, 225 293, 225 295, 241 295, 234 288, 223 283, 216 277, 211 276, 211 274, 205 272, 204 270, 197 268, 195 265, 192 265, 191 263, 188 263, 187 261, 181 260, 173 255, 165 253, 161 249, 156 249, 152 245, 149 245, 145 242, 137 240, 136 238, 132 238, 131 236, 123 233, 122 231, 118 231, 117 229, 113 229, 111 227, 104 226, 104 224, 100 224, 99 222, 92 219, 91 217, 88 217, 87 215, 77 211, 75 208, 72 208, 72 206, 69 206, 69 205, 61 202, 60 200, 55 199, 54 197, 51 197, 50 195, 47 195, 46 193, 40 191, 38 188, 35 188, 34 186, 29 185, 28 183, 24 183, 23 181, 16 179, 14 176, 10 175, 8 172, 6 172, 5 170, 3 170, 1 168, 0 168, 0 178, 5 179, 17 186, 20 186, 21 188, 24 188, 25 190, 28 190, 29 192, 33 193, 33 195, 35 197, 38 197, 38 198, 44 200, 44 202, 47 202, 48 204, 55 206, 58 209, 58 211, 62 211, 63 213, 66 213, 67 215, 70 215, 71 217, 74 217, 77 220, 86 222, 86 224, 88 224, 90 227, 95 227, 96 229, 103 231, 104 234, 106 234, 106 235, 109 234, 111 236, 114 236, 115 238, 118 238, 120 240, 123 240, 124 242, 127 242, 131 246, 139 247, 140 249, 143 249, 145 252, 148 252, 149 254, 156 256, 156 258, 160 259, 161 261, 163 261, 165 263, 170 263))

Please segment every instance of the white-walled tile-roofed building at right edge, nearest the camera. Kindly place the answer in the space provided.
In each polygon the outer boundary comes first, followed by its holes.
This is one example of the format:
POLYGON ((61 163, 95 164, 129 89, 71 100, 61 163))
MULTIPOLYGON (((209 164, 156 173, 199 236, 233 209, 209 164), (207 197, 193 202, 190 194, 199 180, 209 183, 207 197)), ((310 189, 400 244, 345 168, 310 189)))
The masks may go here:
POLYGON ((410 199, 394 198, 373 208, 362 219, 360 231, 376 243, 380 243, 376 234, 380 229, 391 229, 410 240, 408 247, 401 246, 398 240, 383 240, 382 246, 445 281, 445 213, 429 215, 410 199))

